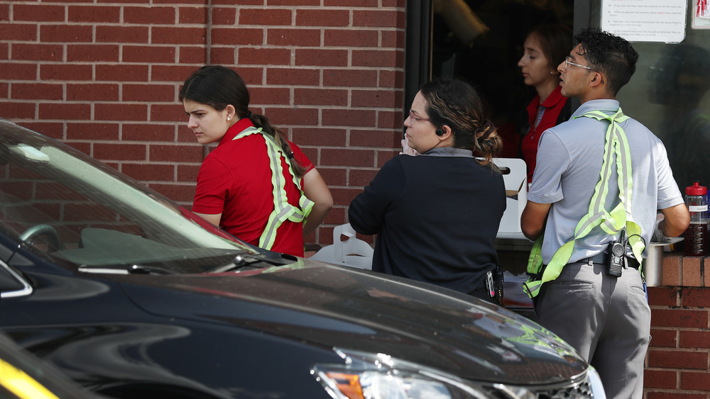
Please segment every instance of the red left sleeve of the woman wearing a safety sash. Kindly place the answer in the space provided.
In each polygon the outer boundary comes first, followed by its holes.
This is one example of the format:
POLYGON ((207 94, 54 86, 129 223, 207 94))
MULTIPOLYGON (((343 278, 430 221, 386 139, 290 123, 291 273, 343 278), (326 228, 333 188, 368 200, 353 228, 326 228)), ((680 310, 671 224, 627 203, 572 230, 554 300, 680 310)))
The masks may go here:
POLYGON ((217 215, 224 212, 224 201, 233 184, 231 173, 222 162, 212 157, 202 161, 197 174, 197 189, 192 212, 217 215))

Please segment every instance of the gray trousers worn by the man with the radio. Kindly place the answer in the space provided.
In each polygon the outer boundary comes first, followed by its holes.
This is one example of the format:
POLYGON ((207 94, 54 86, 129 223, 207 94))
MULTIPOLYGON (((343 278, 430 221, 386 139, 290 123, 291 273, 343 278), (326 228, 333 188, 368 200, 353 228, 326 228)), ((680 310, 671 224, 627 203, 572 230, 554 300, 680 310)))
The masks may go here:
POLYGON ((537 322, 594 366, 607 398, 642 398, 651 310, 638 270, 624 269, 617 279, 603 264, 577 262, 542 289, 537 322))

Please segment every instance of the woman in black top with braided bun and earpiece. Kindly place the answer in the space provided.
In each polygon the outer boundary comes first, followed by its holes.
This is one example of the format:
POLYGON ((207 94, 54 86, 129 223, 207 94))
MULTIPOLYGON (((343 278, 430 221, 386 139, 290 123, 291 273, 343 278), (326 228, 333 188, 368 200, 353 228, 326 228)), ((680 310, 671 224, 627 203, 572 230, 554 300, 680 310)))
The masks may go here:
POLYGON ((491 158, 503 144, 481 98, 461 80, 435 80, 404 125, 420 155, 388 161, 348 212, 357 232, 378 235, 372 269, 496 302, 486 273, 498 262, 506 189, 491 158))

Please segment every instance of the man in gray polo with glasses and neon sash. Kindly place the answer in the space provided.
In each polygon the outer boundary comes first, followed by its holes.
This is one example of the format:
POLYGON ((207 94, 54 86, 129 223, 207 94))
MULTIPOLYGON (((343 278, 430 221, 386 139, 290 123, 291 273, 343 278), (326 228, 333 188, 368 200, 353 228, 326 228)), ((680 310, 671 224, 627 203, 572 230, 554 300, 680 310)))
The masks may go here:
POLYGON ((581 106, 542 134, 521 218, 526 237, 543 235, 547 266, 533 290, 535 311, 540 325, 599 371, 608 398, 641 398, 650 308, 636 259, 655 228, 676 237, 689 214, 663 143, 616 101, 638 53, 598 29, 582 30, 574 42, 557 70, 562 95, 581 106), (665 219, 657 224, 659 209, 665 219), (612 259, 621 268, 609 267, 608 248, 621 231, 625 256, 612 259))

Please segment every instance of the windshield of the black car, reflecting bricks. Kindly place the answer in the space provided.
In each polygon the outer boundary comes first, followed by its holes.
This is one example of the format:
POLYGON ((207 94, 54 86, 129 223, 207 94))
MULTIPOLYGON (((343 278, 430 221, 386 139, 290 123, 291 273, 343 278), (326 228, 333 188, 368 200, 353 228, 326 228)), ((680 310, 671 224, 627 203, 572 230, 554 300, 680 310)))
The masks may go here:
POLYGON ((199 273, 256 252, 111 167, 2 119, 0 229, 77 269, 199 273))

